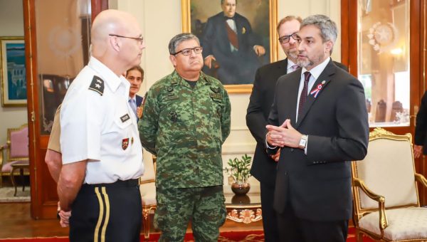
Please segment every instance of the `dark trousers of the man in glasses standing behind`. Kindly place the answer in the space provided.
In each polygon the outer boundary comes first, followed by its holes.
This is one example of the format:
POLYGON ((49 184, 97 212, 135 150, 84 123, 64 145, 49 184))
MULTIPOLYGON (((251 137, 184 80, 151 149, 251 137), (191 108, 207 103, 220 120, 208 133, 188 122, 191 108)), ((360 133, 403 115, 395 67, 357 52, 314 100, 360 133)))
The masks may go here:
POLYGON ((261 207, 263 209, 263 228, 265 242, 279 241, 278 219, 273 209, 274 186, 260 183, 261 207))

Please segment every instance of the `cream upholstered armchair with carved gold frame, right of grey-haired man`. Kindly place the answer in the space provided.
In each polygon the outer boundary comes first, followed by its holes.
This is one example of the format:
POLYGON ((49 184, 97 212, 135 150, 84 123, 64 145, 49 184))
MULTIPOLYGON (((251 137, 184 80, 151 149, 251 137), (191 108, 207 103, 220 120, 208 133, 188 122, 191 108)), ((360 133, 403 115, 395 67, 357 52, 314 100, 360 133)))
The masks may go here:
POLYGON ((427 241, 427 208, 420 207, 411 134, 381 128, 369 134, 367 156, 352 162, 354 226, 378 241, 427 241))

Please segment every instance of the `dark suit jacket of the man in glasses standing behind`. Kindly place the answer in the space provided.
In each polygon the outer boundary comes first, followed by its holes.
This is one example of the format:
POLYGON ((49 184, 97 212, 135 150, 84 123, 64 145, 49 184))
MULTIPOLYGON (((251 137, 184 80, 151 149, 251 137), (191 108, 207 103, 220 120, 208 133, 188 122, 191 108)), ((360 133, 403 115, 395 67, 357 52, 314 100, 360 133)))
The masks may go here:
MULTIPOLYGON (((342 63, 334 63, 343 70, 348 70, 347 66, 342 63)), ((288 73, 288 58, 258 68, 246 114, 246 125, 257 143, 251 174, 258 181, 269 186, 275 184, 277 162, 265 152, 265 125, 267 125, 268 115, 273 104, 275 85, 280 76, 286 73, 288 73)))

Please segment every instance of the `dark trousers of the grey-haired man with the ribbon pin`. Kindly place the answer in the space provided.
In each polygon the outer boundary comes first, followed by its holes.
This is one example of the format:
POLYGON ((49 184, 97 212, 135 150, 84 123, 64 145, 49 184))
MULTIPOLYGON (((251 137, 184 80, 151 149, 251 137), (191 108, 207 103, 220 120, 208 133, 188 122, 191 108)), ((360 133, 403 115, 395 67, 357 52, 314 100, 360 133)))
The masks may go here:
POLYGON ((310 221, 295 216, 287 206, 278 214, 280 242, 345 242, 348 221, 310 221))

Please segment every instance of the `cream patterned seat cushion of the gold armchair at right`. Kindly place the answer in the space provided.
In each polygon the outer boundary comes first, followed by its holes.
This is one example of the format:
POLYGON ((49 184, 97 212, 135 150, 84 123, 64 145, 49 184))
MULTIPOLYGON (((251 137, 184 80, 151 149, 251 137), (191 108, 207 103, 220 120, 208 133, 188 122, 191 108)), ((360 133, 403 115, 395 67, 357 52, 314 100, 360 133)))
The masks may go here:
MULTIPOLYGON (((384 237, 391 241, 403 239, 427 239, 427 209, 408 208, 386 211, 389 226, 384 229, 384 237)), ((360 228, 379 235, 378 212, 363 216, 359 220, 360 228)))

